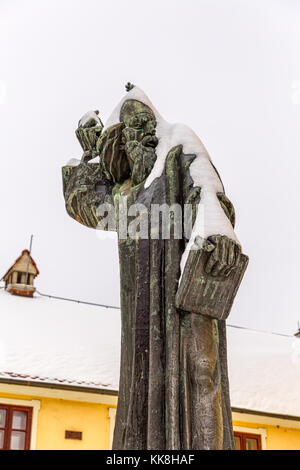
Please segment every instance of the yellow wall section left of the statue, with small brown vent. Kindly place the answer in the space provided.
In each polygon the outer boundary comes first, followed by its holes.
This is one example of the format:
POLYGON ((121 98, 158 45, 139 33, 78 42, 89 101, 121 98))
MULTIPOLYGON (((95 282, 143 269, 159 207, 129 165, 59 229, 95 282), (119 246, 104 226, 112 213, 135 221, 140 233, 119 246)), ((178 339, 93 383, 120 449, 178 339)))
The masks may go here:
POLYGON ((109 408, 114 405, 79 402, 30 395, 0 393, 1 397, 39 400, 37 450, 109 449, 109 408), (82 440, 65 439, 65 431, 81 431, 82 440))

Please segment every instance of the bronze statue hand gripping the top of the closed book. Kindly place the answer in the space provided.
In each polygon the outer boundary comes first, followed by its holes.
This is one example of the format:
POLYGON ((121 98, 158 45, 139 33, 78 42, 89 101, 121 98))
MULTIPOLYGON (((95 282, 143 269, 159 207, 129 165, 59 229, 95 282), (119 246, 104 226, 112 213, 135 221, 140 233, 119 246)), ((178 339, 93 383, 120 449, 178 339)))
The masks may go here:
POLYGON ((212 235, 208 241, 214 245, 206 264, 205 272, 212 276, 227 277, 236 269, 241 255, 241 246, 225 235, 212 235))

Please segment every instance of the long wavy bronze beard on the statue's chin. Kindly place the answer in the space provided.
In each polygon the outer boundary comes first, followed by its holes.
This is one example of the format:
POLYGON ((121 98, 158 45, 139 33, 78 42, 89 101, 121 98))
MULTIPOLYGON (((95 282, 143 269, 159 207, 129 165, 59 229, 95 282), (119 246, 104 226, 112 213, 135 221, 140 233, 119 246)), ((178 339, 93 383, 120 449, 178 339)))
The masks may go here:
POLYGON ((146 135, 141 142, 130 141, 125 145, 125 152, 131 169, 133 186, 142 183, 151 173, 157 158, 155 147, 158 144, 156 136, 146 135))

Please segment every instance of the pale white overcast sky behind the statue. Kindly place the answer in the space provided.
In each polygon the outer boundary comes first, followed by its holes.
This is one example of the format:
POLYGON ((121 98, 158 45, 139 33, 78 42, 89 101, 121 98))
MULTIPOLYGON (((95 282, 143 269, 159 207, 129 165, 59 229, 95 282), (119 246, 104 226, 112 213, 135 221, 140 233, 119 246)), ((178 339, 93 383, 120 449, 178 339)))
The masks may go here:
POLYGON ((229 323, 295 331, 297 0, 0 0, 0 45, 1 275, 33 233, 42 292, 119 304, 116 238, 67 216, 61 166, 131 81, 196 131, 235 205, 250 264, 229 323))

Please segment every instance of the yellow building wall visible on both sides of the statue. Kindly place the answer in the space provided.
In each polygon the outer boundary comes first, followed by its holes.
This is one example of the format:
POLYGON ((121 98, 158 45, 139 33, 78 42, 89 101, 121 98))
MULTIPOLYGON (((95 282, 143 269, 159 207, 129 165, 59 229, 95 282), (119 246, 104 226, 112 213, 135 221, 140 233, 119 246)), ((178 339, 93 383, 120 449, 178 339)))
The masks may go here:
MULTIPOLYGON (((15 388, 14 388, 15 390, 15 388)), ((1 397, 16 400, 39 400, 40 410, 37 421, 37 450, 105 450, 109 449, 110 419, 108 404, 75 401, 45 396, 21 395, 0 392, 1 397), (65 431, 81 431, 82 440, 65 439, 65 431)), ((99 397, 100 398, 100 397, 99 397)), ((246 417, 245 417, 246 418, 246 417)), ((257 422, 233 421, 234 426, 266 430, 267 450, 300 450, 299 428, 264 424, 264 417, 258 416, 257 422)))

